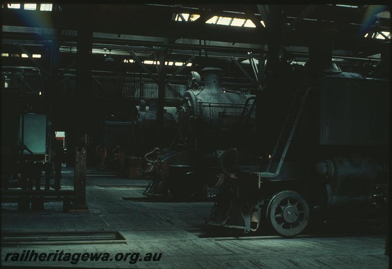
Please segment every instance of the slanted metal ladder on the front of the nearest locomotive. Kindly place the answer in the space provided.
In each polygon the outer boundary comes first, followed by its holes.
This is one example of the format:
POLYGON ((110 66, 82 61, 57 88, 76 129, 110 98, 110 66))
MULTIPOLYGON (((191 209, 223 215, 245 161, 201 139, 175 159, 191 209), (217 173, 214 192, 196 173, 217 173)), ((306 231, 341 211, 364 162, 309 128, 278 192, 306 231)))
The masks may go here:
POLYGON ((290 105, 282 130, 279 134, 278 140, 276 141, 272 156, 270 157, 270 163, 268 164, 266 171, 258 173, 259 176, 275 177, 280 173, 280 169, 282 168, 287 151, 289 150, 298 121, 301 117, 302 110, 305 106, 306 98, 308 97, 311 89, 311 87, 299 87, 295 91, 293 102, 290 105), (279 163, 276 171, 270 172, 271 164, 277 159, 279 159, 279 163))

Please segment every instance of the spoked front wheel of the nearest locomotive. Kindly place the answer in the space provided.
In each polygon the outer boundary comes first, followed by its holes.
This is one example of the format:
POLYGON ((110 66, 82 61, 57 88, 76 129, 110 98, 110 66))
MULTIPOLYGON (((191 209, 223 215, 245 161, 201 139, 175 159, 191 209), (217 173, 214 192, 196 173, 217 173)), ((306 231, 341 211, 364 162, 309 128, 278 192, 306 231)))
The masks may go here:
POLYGON ((294 191, 279 192, 270 200, 267 220, 280 235, 295 236, 308 225, 308 203, 294 191))

